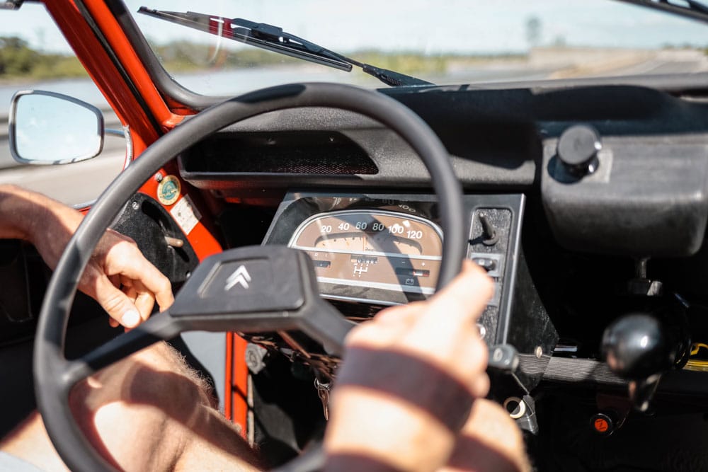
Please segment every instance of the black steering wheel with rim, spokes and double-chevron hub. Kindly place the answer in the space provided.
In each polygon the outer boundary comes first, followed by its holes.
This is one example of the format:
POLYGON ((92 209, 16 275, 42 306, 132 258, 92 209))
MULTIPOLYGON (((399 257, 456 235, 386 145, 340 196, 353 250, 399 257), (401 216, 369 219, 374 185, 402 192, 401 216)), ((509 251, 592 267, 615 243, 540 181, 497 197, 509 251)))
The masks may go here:
POLYGON ((240 332, 302 329, 329 352, 341 352, 350 322, 341 314, 333 315, 335 310, 317 295, 309 258, 290 248, 275 246, 264 250, 251 246, 207 258, 193 272, 169 310, 152 316, 129 333, 119 335, 80 359, 68 360, 64 355, 69 310, 79 278, 105 229, 140 186, 174 156, 227 125, 262 113, 301 107, 339 108, 360 113, 398 133, 416 151, 430 172, 445 234, 438 289, 459 272, 467 242, 461 186, 438 137, 426 122, 398 101, 353 86, 292 84, 247 93, 202 111, 154 142, 108 186, 69 241, 47 287, 35 338, 35 392, 50 439, 71 470, 113 469, 76 425, 69 408, 72 387, 98 369, 158 340, 168 340, 182 331, 194 329, 240 332), (280 274, 289 273, 288 280, 270 279, 268 289, 274 297, 272 302, 263 294, 250 298, 239 295, 238 304, 234 304, 234 297, 205 295, 205 290, 209 290, 204 287, 210 277, 217 279, 222 273, 228 276, 232 267, 254 260, 260 267, 258 270, 268 272, 268 277, 277 279, 280 274), (277 264, 278 270, 274 270, 273 264, 277 264), (282 267, 290 267, 292 272, 282 267))

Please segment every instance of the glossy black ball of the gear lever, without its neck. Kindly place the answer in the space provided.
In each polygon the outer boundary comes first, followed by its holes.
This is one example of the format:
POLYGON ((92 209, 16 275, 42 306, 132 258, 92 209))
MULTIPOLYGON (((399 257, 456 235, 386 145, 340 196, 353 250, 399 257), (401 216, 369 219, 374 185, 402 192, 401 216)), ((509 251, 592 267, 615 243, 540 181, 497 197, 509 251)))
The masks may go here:
POLYGON ((673 366, 676 343, 658 319, 632 314, 605 329, 602 351, 607 365, 625 379, 646 379, 673 366))

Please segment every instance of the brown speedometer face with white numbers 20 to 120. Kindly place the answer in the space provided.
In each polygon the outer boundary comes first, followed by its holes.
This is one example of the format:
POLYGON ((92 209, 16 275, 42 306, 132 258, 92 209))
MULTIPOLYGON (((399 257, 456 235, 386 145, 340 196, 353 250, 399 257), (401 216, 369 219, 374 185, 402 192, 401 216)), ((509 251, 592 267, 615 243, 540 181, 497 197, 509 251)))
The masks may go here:
MULTIPOLYGON (((325 297, 384 301, 381 290, 426 296, 435 291, 442 255, 440 227, 383 210, 316 214, 288 246, 312 258, 325 297)), ((386 297, 387 300, 392 299, 386 297)), ((421 297, 393 297, 398 301, 421 297)))

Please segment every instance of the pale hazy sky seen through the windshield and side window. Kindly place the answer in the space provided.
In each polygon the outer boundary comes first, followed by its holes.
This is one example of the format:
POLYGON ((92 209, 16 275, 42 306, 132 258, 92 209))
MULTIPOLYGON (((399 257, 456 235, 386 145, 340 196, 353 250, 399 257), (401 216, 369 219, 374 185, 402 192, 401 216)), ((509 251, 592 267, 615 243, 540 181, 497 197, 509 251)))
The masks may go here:
MULTIPOLYGON (((708 46, 708 24, 610 0, 128 0, 130 11, 141 5, 169 11, 199 11, 281 26, 332 50, 348 52, 382 47, 389 50, 438 52, 523 52, 530 46, 529 18, 538 18, 538 45, 562 40, 567 45, 596 47, 708 46)), ((217 38, 178 25, 136 15, 152 40, 217 38)), ((19 11, 0 11, 0 35, 16 35, 33 47, 67 52, 55 25, 38 4, 19 11)))

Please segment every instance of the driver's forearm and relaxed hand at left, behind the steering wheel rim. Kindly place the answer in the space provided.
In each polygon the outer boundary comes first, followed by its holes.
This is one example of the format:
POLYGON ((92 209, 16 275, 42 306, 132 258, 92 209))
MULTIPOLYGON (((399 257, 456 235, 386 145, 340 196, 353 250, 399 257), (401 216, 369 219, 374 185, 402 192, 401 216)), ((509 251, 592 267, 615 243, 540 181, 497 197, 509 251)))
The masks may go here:
MULTIPOLYGON (((12 186, 0 188, 0 215, 7 217, 0 237, 32 242, 52 270, 84 218, 49 197, 12 186)), ((167 277, 144 258, 135 241, 110 229, 93 251, 79 289, 103 306, 111 326, 125 328, 147 320, 155 301, 161 310, 174 301, 167 277)))

